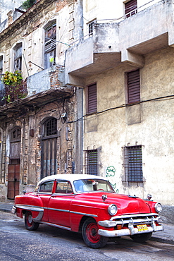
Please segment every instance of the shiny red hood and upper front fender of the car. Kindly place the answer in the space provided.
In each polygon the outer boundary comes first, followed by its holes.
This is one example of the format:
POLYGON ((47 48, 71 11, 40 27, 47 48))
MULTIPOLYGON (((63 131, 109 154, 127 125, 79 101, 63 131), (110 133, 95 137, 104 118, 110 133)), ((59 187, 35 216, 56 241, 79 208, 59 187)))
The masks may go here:
POLYGON ((75 201, 81 202, 82 205, 97 205, 101 208, 107 208, 110 204, 118 207, 117 215, 121 214, 139 214, 150 213, 151 209, 147 202, 135 196, 122 195, 117 193, 83 193, 75 196, 75 201), (107 195, 107 199, 102 200, 102 195, 107 195))

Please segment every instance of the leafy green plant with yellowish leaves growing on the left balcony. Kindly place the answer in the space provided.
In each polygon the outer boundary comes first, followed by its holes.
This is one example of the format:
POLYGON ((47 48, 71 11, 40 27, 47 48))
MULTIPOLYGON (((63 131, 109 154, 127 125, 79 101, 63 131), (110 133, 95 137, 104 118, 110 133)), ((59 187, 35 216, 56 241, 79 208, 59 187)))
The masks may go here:
POLYGON ((26 83, 23 81, 20 71, 15 71, 15 73, 6 71, 1 80, 5 85, 5 96, 3 99, 6 103, 27 96, 26 83))

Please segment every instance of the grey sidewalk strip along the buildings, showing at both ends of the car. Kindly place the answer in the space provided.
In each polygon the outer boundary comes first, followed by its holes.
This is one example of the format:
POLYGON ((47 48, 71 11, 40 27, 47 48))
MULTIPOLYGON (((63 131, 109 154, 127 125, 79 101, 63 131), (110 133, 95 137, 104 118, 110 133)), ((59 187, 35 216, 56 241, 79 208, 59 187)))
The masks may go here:
MULTIPOLYGON (((10 200, 9 202, 0 202, 0 211, 10 213, 12 207, 13 200, 10 200)), ((153 233, 150 240, 174 245, 174 225, 163 224, 163 226, 164 231, 153 233)))

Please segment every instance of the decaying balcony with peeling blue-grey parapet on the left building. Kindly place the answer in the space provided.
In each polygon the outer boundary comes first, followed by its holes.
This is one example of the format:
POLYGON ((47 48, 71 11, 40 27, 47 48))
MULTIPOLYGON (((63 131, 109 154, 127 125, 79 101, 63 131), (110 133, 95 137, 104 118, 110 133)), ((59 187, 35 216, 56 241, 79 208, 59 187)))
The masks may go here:
MULTIPOLYGON (((1 81, 0 81, 1 83, 1 81)), ((29 110, 37 110, 48 102, 62 102, 64 98, 73 95, 73 88, 64 84, 64 67, 54 66, 35 73, 27 78, 25 92, 27 97, 21 97, 21 93, 11 95, 8 100, 9 90, 1 83, 0 95, 6 99, 1 99, 0 120, 6 117, 20 116, 27 114, 29 110)))

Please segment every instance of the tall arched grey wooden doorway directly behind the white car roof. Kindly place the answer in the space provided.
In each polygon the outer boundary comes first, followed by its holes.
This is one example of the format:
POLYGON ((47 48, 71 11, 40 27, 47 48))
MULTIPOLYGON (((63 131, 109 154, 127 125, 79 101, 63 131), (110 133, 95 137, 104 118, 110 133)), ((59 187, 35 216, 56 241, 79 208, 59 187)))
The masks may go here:
POLYGON ((57 137, 57 119, 46 119, 42 123, 41 178, 57 173, 57 137))

